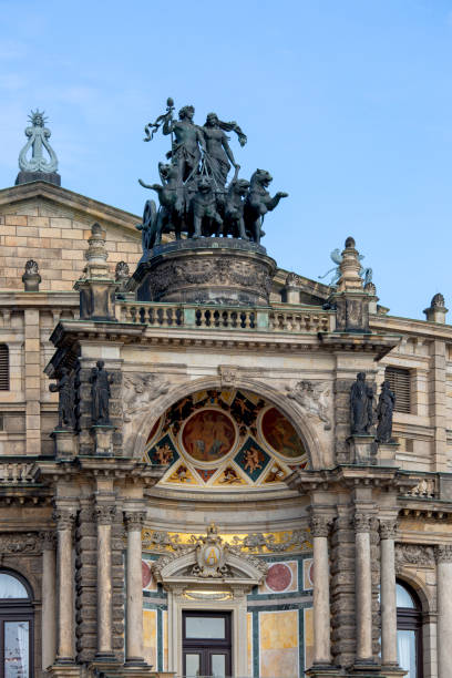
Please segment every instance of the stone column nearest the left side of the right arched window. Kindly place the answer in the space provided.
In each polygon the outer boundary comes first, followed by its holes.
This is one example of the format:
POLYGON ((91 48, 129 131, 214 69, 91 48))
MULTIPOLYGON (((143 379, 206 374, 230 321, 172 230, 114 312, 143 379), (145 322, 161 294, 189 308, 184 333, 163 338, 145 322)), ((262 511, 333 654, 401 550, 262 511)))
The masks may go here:
POLYGON ((381 662, 398 666, 396 594, 396 521, 380 521, 381 662))

